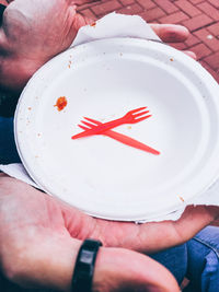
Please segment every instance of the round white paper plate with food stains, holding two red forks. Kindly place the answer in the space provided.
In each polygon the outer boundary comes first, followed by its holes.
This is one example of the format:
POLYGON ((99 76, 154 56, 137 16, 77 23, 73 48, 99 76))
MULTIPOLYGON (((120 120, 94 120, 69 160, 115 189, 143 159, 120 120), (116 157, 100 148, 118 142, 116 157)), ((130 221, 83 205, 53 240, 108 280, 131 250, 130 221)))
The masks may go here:
POLYGON ((200 195, 219 174, 219 86, 200 65, 163 44, 111 38, 71 48, 23 91, 15 139, 33 179, 94 217, 145 220, 200 195), (66 96, 67 107, 54 105, 66 96), (72 140, 83 116, 107 121, 148 106, 115 130, 161 152, 105 136, 72 140))

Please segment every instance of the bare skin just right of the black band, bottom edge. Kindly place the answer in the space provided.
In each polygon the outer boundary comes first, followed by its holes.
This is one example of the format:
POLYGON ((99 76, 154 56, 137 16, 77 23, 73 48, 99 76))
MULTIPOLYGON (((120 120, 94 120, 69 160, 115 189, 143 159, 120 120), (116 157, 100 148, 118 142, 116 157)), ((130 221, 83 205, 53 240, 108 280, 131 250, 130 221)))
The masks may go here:
POLYGON ((174 277, 155 260, 124 248, 100 248, 93 290, 177 292, 174 277))

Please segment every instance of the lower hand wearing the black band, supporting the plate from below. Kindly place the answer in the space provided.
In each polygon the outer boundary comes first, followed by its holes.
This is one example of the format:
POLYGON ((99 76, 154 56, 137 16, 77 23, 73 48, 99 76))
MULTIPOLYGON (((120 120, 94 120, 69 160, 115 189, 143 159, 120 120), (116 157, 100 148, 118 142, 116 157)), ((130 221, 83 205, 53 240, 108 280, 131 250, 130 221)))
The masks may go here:
POLYGON ((69 291, 80 241, 99 238, 93 291, 178 291, 171 273, 141 253, 181 244, 219 215, 197 207, 176 222, 111 222, 91 218, 31 186, 0 175, 0 266, 25 287, 69 291), (191 224, 193 220, 193 224, 191 224), (159 276, 159 277, 158 277, 159 276))

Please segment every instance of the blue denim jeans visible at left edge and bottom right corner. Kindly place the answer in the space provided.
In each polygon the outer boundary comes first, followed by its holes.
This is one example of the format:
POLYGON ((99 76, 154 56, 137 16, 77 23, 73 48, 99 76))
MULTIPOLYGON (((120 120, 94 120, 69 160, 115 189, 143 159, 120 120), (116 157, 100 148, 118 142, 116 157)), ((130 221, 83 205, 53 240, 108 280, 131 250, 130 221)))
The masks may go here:
MULTIPOLYGON (((0 164, 16 162, 20 162, 20 157, 13 138, 13 118, 0 117, 0 164)), ((184 277, 188 278, 191 283, 185 289, 186 292, 219 292, 219 227, 208 226, 186 244, 151 257, 165 266, 178 283, 184 277)), ((7 287, 7 280, 2 281, 7 287)), ((0 288, 3 288, 1 279, 0 288)), ((0 291, 22 290, 10 284, 9 290, 0 291)))

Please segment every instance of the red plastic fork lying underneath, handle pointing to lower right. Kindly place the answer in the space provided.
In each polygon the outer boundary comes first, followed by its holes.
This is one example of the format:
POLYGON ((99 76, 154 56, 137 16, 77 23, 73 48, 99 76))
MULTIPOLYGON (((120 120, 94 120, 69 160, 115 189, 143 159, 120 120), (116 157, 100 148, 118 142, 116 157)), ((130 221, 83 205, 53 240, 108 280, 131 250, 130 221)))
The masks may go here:
MULTIPOLYGON (((94 122, 95 125, 102 125, 101 121, 99 120, 95 120, 95 119, 92 119, 92 122, 94 122)), ((90 128, 93 128, 95 127, 95 125, 93 124, 90 124, 90 122, 85 122, 85 125, 90 128)), ((90 128, 88 127, 84 127, 84 126, 79 126, 81 129, 83 130, 88 130, 90 128)), ((105 135, 105 136, 108 136, 111 138, 113 138, 114 140, 117 140, 126 145, 129 145, 129 147, 132 147, 132 148, 137 148, 137 149, 140 149, 140 150, 143 150, 148 153, 151 153, 151 154, 154 154, 154 155, 159 155, 160 152, 157 151, 155 149, 149 147, 149 145, 146 145, 126 135, 123 135, 123 133, 119 133, 119 132, 115 132, 115 131, 112 131, 112 130, 107 130, 107 131, 104 131, 102 135, 105 135)))

